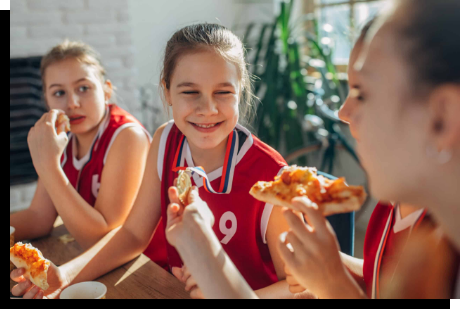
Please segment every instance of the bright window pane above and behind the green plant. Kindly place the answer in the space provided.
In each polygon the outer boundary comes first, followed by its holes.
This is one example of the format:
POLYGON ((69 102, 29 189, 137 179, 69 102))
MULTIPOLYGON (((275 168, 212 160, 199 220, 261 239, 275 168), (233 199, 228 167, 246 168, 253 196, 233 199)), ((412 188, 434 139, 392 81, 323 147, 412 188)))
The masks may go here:
POLYGON ((316 0, 322 44, 330 45, 335 64, 348 63, 356 35, 385 0, 316 0))

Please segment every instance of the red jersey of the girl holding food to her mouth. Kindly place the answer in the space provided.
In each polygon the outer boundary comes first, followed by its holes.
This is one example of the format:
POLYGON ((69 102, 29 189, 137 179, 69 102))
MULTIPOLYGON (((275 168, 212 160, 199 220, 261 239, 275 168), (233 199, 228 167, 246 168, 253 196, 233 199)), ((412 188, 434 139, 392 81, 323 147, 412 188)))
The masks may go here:
POLYGON ((110 148, 118 134, 130 127, 142 128, 151 140, 150 134, 136 118, 116 105, 109 105, 90 151, 80 160, 76 158, 76 139, 72 133, 69 134, 69 142, 61 158, 61 166, 70 183, 91 206, 96 203, 110 148))

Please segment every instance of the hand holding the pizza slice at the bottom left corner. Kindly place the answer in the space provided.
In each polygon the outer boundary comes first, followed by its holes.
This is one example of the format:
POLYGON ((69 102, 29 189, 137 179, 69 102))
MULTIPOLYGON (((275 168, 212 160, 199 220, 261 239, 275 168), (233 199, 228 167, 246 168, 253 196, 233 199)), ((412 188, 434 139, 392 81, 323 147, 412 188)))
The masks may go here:
POLYGON ((14 296, 22 296, 24 299, 57 298, 69 286, 67 278, 53 263, 48 268, 47 280, 49 288, 46 291, 41 290, 24 278, 24 272, 24 268, 18 268, 11 272, 11 280, 18 283, 11 290, 14 296))

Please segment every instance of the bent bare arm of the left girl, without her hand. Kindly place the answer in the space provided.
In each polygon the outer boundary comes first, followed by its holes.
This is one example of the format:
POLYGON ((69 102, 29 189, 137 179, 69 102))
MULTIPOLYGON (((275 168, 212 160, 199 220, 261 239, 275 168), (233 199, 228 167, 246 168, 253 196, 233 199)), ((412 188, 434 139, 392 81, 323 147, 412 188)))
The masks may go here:
POLYGON ((107 156, 94 207, 70 184, 62 168, 47 173, 45 186, 56 210, 83 248, 89 248, 125 221, 142 181, 148 147, 143 130, 121 131, 107 156))

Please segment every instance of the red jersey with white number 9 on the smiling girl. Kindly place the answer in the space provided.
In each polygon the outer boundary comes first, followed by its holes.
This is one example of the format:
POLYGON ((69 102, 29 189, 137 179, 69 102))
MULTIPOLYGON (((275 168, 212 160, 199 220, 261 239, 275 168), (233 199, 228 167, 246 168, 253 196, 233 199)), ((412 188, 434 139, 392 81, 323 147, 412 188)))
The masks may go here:
MULTIPOLYGON (((241 272, 252 289, 257 290, 278 281, 266 244, 265 233, 273 205, 254 199, 249 190, 257 181, 271 181, 286 166, 285 160, 246 128, 237 125, 239 140, 234 173, 230 176, 232 189, 229 194, 213 194, 203 187, 203 179, 196 173, 193 185, 199 188, 200 197, 206 201, 214 214, 214 233, 225 252, 241 272)), ((158 174, 161 179, 162 219, 166 221, 169 202, 168 188, 173 185, 177 173, 172 171, 174 154, 183 134, 171 121, 161 136, 158 155, 158 174)), ((184 145, 180 166, 195 166, 188 144, 184 145)), ((207 174, 214 188, 218 188, 222 168, 207 174)), ((162 227, 164 235, 164 227, 162 227)), ((164 236, 163 236, 164 237, 164 236)), ((154 245, 152 241, 151 245, 154 245)), ((182 261, 176 250, 167 244, 170 267, 181 267, 182 261)), ((198 253, 197 253, 198 254, 198 253)))

